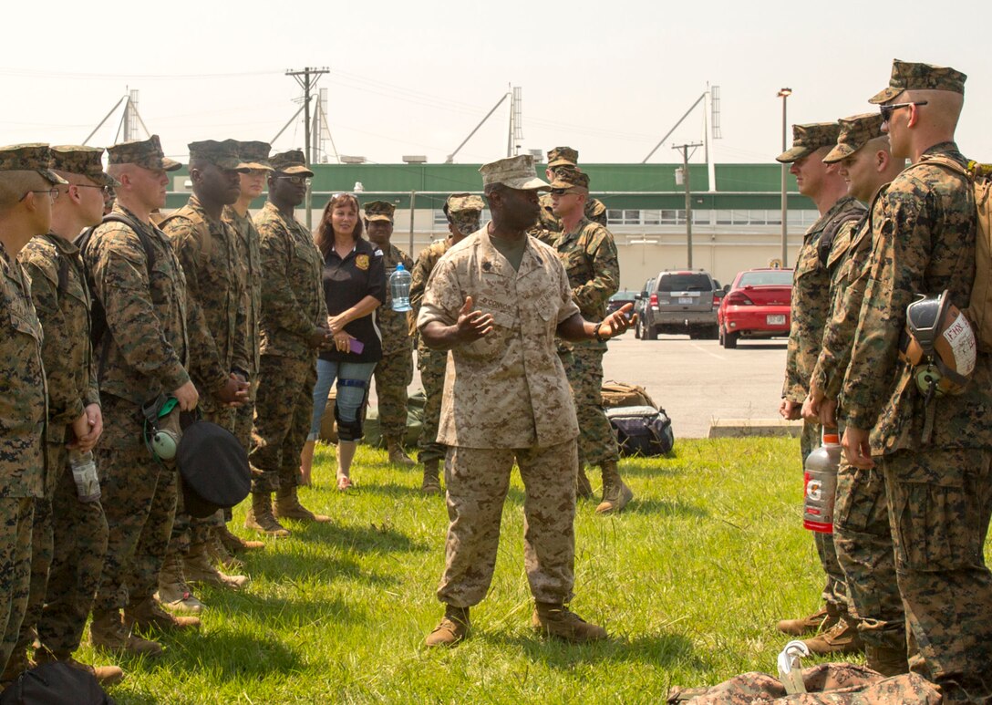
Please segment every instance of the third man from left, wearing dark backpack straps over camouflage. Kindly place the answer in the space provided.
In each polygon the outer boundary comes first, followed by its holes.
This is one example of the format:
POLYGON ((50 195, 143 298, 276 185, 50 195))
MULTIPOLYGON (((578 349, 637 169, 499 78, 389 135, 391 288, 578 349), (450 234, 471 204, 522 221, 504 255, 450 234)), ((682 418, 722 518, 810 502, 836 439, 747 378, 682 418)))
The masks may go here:
POLYGON ((202 314, 186 296, 186 276, 169 238, 150 219, 165 201, 152 186, 164 190, 167 172, 181 165, 166 158, 157 135, 114 145, 107 153, 109 171, 121 182, 111 215, 127 222, 105 221, 81 247, 90 293, 106 317, 94 349, 104 425, 95 455, 109 534, 90 640, 157 655, 162 647, 138 638, 130 627, 176 629, 199 622, 171 617, 153 597, 176 515, 177 473, 145 445, 141 407, 164 393, 195 399, 192 360, 211 386, 223 385, 227 371, 219 365, 207 370, 216 356, 204 337, 202 314))

